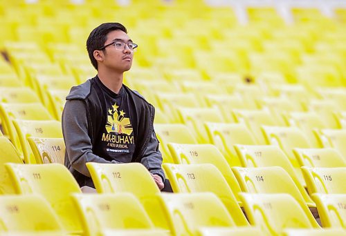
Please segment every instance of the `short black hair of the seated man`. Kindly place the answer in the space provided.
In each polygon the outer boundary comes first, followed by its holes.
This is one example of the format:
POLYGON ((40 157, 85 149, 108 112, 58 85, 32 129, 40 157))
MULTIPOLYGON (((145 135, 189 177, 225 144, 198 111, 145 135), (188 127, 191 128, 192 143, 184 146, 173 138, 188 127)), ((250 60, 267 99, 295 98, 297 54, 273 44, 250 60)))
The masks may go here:
POLYGON ((127 33, 125 26, 122 26, 121 23, 102 23, 91 31, 86 40, 86 50, 88 50, 90 61, 96 70, 98 70, 98 62, 95 57, 93 57, 93 51, 102 48, 107 41, 107 34, 113 30, 121 30, 127 33))

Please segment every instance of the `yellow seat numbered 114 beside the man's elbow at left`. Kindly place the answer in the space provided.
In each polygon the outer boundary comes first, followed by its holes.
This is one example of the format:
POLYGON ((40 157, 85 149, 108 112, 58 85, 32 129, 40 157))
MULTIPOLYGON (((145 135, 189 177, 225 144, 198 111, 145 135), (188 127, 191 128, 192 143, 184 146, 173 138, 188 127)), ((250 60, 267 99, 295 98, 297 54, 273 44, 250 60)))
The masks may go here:
POLYGON ((28 137, 28 143, 35 157, 36 164, 64 164, 64 138, 28 137))

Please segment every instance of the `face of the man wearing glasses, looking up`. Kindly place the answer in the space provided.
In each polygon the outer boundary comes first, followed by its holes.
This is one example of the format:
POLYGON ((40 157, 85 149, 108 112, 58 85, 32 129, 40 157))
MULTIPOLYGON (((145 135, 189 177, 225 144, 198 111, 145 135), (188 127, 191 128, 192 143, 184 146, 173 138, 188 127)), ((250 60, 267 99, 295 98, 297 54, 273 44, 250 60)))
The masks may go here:
MULTIPOLYGON (((121 30, 109 32, 104 45, 112 43, 113 41, 122 41, 125 43, 132 42, 129 36, 121 30)), ((99 62, 99 69, 100 67, 104 66, 111 70, 125 72, 131 68, 132 59, 134 58, 134 51, 130 50, 127 45, 125 45, 125 48, 118 50, 114 44, 111 44, 110 46, 104 48, 104 50, 95 51, 94 57, 99 62)))

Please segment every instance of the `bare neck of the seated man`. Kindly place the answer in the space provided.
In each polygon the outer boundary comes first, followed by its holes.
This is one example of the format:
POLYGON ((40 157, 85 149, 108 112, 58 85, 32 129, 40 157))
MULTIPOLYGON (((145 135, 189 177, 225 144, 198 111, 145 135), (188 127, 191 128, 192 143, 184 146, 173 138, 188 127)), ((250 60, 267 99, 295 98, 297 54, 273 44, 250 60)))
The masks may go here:
POLYGON ((122 79, 124 78, 123 72, 106 71, 99 69, 98 77, 100 81, 109 88, 112 92, 119 93, 122 86, 122 79))

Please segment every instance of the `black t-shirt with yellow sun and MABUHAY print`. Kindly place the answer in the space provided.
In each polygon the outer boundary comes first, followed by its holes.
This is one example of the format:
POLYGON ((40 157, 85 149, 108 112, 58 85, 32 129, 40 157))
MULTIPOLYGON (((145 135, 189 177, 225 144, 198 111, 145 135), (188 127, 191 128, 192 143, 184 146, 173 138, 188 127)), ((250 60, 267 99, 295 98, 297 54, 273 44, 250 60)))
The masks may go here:
POLYGON ((136 147, 131 114, 136 111, 129 106, 129 95, 123 87, 116 94, 104 86, 98 77, 95 81, 102 91, 98 97, 104 106, 93 153, 109 161, 131 162, 136 147))

